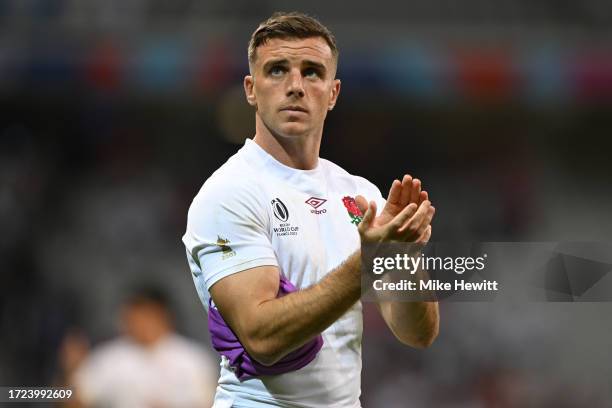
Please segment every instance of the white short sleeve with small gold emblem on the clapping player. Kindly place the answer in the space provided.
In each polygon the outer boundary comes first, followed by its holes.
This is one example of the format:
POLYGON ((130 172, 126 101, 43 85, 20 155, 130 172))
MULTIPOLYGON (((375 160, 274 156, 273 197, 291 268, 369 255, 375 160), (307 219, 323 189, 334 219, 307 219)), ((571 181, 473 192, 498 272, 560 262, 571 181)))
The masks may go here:
POLYGON ((206 289, 257 266, 278 266, 269 216, 254 183, 209 180, 194 199, 183 242, 194 276, 206 289))

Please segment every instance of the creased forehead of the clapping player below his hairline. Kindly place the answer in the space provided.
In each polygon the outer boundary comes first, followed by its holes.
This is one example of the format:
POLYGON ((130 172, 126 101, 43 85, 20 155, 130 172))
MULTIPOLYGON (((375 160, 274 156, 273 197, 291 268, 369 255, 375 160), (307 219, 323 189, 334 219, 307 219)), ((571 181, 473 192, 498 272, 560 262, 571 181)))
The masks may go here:
POLYGON ((322 37, 272 38, 257 47, 257 63, 265 64, 272 59, 289 61, 314 60, 331 63, 331 48, 322 37))

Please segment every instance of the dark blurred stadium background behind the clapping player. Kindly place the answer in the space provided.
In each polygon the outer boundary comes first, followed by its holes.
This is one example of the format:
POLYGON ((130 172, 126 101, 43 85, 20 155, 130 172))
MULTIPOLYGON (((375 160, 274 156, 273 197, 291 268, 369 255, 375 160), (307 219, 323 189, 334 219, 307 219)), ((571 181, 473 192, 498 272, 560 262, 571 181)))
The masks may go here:
MULTIPOLYGON (((0 384, 51 384, 138 281, 208 347, 186 211, 253 135, 246 45, 287 9, 340 47, 322 156, 420 177, 435 240, 610 241, 608 1, 0 0, 0 384)), ((370 306, 365 407, 612 405, 609 303, 443 304, 427 351, 370 306)))

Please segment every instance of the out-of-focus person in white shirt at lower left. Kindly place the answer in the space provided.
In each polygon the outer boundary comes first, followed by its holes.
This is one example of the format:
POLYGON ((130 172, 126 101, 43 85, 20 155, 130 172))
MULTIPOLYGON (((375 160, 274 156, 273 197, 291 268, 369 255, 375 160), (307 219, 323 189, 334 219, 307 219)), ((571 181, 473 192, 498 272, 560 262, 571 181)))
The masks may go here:
POLYGON ((141 289, 122 306, 123 335, 89 352, 88 340, 69 333, 60 351, 77 407, 208 407, 217 384, 215 362, 175 333, 168 301, 141 289))

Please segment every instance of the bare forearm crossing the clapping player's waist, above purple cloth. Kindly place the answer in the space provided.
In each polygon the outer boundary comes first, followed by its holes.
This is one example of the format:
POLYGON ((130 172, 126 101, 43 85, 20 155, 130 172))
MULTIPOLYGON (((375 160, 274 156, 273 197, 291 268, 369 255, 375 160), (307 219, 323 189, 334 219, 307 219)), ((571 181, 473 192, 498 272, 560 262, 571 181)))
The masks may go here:
POLYGON ((338 320, 359 300, 360 268, 356 252, 317 284, 260 303, 248 336, 253 357, 272 364, 338 320))

